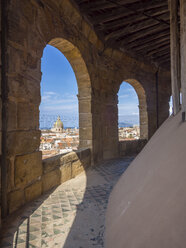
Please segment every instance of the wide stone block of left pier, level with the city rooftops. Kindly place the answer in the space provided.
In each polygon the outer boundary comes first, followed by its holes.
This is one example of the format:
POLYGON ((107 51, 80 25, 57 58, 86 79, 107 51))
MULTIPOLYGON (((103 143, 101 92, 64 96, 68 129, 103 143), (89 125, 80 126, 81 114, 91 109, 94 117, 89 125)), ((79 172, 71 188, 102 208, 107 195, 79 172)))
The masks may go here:
POLYGON ((7 133, 7 155, 36 151, 40 145, 41 131, 13 131, 7 133))

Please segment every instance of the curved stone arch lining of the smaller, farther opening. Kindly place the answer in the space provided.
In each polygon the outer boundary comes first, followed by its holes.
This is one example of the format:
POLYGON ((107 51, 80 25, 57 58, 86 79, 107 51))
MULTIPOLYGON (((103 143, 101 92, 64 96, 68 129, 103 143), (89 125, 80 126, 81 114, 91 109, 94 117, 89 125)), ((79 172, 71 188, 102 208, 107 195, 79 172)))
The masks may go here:
MULTIPOLYGON (((147 99, 143 86, 136 79, 125 79, 122 82, 129 83, 138 96, 139 100, 139 124, 140 124, 140 139, 148 139, 148 112, 147 99)), ((121 85, 121 84, 120 84, 121 85)), ((119 90, 118 90, 119 91, 119 90)))

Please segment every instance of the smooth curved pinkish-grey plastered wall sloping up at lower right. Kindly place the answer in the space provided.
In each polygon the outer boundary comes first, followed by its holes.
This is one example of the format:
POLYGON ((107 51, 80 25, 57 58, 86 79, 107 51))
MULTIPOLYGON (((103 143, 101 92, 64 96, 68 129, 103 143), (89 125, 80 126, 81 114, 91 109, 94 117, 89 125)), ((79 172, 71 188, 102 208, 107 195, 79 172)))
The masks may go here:
POLYGON ((169 117, 116 184, 106 248, 186 247, 186 122, 169 117))

